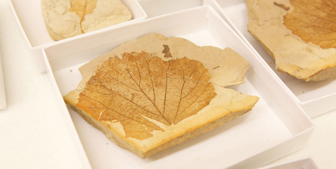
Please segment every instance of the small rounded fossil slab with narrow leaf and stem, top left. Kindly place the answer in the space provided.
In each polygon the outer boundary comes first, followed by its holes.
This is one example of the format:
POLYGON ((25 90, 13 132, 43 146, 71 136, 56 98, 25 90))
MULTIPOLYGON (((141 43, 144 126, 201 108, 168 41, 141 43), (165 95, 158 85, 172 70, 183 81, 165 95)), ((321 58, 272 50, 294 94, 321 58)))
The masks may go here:
POLYGON ((41 0, 52 39, 61 40, 132 19, 120 0, 41 0))

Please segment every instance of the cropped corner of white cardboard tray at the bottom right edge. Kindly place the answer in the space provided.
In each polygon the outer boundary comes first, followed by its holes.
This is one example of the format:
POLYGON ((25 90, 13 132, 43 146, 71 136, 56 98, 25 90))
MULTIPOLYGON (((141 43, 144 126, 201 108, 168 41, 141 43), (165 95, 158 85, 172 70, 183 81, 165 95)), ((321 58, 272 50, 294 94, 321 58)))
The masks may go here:
POLYGON ((319 169, 315 161, 311 157, 302 157, 299 159, 291 160, 285 163, 265 166, 259 169, 319 169))

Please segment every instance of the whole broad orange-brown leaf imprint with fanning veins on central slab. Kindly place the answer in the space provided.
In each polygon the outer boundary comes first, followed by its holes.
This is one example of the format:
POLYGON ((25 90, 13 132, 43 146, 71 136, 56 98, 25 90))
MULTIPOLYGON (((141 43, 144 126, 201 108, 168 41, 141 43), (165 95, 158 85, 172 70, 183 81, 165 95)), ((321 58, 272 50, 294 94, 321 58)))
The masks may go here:
POLYGON ((197 114, 216 96, 208 69, 187 58, 162 61, 146 52, 104 61, 86 83, 76 104, 99 121, 120 122, 126 136, 139 140, 197 114))

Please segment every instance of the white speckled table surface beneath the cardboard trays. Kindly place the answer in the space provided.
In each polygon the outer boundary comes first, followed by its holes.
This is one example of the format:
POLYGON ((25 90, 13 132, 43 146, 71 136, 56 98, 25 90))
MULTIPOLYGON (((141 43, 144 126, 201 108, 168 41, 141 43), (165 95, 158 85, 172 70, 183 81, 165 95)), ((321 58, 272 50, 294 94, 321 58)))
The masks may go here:
MULTIPOLYGON (((7 109, 0 110, 0 168, 83 168, 46 73, 40 73, 8 0, 0 0, 0 51, 7 109)), ((336 103, 336 100, 335 100, 336 103)), ((268 165, 311 156, 336 168, 336 110, 312 118, 304 149, 268 165)))

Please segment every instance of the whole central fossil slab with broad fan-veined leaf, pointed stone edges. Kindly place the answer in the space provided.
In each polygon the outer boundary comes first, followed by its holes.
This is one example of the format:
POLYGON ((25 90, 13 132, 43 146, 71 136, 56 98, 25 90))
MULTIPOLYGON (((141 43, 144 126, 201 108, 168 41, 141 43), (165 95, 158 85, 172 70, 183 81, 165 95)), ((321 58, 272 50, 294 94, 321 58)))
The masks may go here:
POLYGON ((250 111, 259 97, 225 88, 244 83, 248 68, 230 48, 150 33, 81 66, 81 82, 63 98, 145 158, 250 111))

